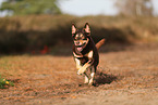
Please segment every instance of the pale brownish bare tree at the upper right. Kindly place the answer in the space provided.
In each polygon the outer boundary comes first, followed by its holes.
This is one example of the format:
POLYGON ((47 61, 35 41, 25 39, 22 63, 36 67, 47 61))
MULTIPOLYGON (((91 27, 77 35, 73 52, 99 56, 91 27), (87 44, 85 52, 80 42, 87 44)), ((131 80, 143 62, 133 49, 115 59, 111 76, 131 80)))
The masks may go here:
POLYGON ((151 16, 151 0, 117 0, 116 5, 120 14, 134 16, 151 16))

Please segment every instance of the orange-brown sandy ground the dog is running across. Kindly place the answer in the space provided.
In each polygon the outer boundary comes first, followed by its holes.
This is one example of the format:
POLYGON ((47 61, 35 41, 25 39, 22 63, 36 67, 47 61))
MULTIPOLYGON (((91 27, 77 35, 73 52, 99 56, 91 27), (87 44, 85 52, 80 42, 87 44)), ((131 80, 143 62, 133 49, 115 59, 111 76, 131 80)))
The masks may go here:
POLYGON ((0 70, 15 87, 0 105, 157 105, 158 43, 100 52, 95 86, 83 84, 71 55, 1 56, 0 70), (1 62, 2 63, 2 62, 1 62))

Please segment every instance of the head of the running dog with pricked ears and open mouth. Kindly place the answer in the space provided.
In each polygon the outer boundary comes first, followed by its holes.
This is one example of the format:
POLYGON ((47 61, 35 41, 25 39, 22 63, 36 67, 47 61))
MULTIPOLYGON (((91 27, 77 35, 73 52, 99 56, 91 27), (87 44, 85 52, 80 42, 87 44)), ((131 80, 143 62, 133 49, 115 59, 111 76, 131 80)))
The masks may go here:
POLYGON ((75 48, 81 52, 88 43, 90 36, 90 28, 88 23, 85 24, 85 27, 77 29, 74 24, 72 24, 72 38, 75 48))

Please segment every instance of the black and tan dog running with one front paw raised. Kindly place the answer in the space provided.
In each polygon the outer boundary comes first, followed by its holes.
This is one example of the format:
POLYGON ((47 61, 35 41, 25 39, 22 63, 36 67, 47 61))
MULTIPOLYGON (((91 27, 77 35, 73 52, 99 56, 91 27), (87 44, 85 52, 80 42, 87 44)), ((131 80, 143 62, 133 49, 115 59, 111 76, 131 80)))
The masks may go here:
POLYGON ((95 44, 90 37, 90 27, 88 23, 86 23, 82 29, 77 29, 74 24, 72 24, 71 28, 73 39, 72 50, 77 74, 84 74, 84 83, 92 86, 94 84, 94 78, 99 63, 98 49, 105 43, 105 39, 101 39, 95 44), (86 73, 88 69, 90 70, 90 76, 86 73))

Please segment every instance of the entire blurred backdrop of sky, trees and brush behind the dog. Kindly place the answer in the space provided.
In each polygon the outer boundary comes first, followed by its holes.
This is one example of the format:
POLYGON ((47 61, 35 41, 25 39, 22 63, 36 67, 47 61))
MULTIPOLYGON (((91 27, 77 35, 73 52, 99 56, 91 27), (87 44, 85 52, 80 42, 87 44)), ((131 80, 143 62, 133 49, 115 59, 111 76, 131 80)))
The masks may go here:
POLYGON ((71 24, 81 28, 86 22, 95 42, 157 42, 158 1, 0 0, 0 53, 46 54, 71 48, 71 24))

